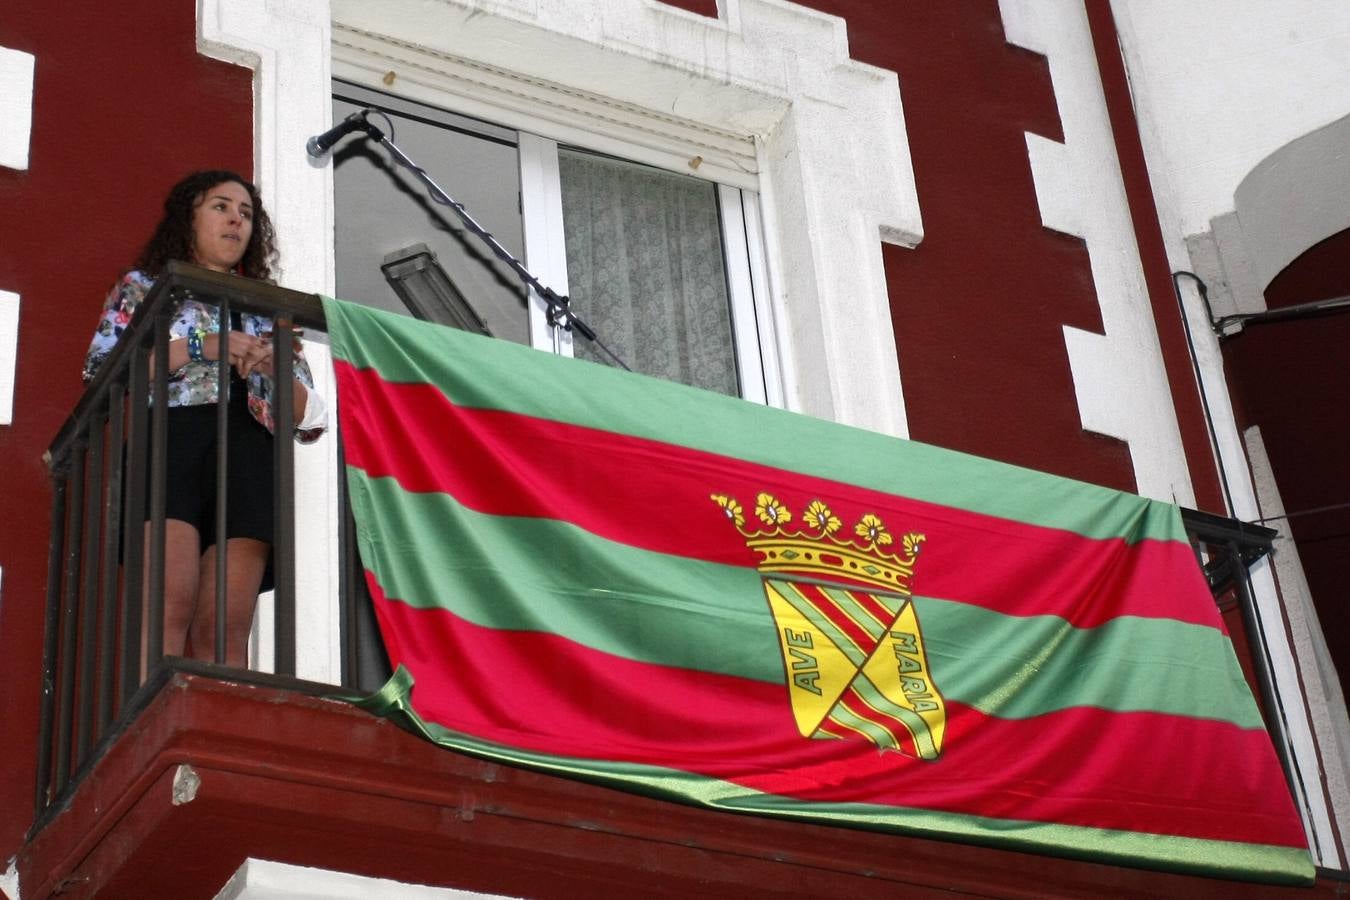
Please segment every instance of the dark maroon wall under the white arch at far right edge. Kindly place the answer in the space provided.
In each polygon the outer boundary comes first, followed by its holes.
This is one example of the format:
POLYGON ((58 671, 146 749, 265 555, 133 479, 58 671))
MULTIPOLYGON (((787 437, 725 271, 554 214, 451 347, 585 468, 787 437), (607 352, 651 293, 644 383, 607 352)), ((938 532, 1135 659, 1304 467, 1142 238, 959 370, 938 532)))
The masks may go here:
MULTIPOLYGON (((1304 251, 1265 290, 1272 309, 1350 296, 1350 231, 1304 251)), ((1250 325, 1223 344, 1239 403, 1239 425, 1261 426, 1284 507, 1307 513, 1270 528, 1292 533, 1341 673, 1350 694, 1350 312, 1250 325), (1320 513, 1310 513, 1327 506, 1320 513)))

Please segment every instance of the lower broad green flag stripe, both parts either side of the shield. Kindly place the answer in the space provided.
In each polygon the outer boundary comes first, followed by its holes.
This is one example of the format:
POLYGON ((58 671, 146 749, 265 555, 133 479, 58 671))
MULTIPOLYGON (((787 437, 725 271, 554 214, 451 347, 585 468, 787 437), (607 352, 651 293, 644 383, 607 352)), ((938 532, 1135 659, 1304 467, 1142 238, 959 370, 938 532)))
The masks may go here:
MULTIPOLYGON (((348 483, 362 559, 390 598, 454 609, 486 627, 556 633, 624 658, 783 680, 753 568, 641 551, 554 519, 486 515, 356 468, 348 468, 348 483), (392 534, 436 540, 382 540, 392 534)), ((1029 718, 1094 706, 1261 726, 1250 692, 1235 680, 1231 645, 1214 629, 1137 617, 1079 629, 1053 615, 1008 617, 933 598, 914 603, 934 683, 945 698, 984 712, 1029 718)))

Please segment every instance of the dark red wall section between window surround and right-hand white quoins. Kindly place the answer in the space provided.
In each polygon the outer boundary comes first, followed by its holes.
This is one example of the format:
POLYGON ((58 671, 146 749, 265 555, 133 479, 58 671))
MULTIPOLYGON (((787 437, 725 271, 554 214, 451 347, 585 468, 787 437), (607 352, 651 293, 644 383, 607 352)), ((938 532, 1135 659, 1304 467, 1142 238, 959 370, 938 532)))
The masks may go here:
POLYGON ((1023 132, 1064 139, 1045 58, 1006 42, 996 0, 809 5, 900 80, 925 237, 884 260, 911 436, 1134 490, 1069 374, 1062 325, 1102 321, 1087 248, 1041 224, 1031 184, 1023 132))

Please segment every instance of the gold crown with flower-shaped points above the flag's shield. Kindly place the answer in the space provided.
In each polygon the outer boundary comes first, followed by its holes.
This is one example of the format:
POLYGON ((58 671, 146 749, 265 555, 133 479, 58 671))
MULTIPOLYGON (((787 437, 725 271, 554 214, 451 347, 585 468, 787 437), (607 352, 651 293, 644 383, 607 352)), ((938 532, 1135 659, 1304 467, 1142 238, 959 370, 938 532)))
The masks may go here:
POLYGON ((791 526, 792 511, 772 494, 760 493, 755 498, 755 518, 763 525, 751 524, 749 528, 745 510, 734 497, 713 494, 711 499, 745 538, 745 546, 760 555, 760 572, 817 575, 910 594, 923 534, 905 534, 896 548, 899 552, 891 552, 886 548, 895 544, 895 538, 872 513, 857 521, 852 537, 836 537, 842 522, 818 499, 806 506, 801 525, 791 526))

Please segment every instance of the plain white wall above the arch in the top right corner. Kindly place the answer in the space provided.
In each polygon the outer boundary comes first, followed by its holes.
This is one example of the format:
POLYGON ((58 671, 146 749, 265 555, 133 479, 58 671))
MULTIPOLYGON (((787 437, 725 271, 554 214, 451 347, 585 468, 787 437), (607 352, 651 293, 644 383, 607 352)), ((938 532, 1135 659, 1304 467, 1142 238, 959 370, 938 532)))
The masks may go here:
POLYGON ((1111 0, 1111 12, 1164 231, 1208 229, 1264 159, 1350 113, 1347 3, 1111 0))

